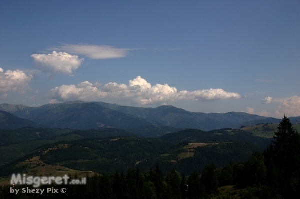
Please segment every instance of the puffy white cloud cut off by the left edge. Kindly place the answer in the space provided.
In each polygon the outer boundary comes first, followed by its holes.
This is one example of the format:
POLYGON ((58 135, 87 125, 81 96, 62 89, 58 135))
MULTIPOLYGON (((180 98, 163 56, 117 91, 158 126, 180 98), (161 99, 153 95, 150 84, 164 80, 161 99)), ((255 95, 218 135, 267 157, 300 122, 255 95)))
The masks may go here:
POLYGON ((17 91, 24 93, 30 89, 29 83, 33 79, 33 75, 28 75, 21 70, 6 70, 0 68, 0 95, 6 98, 8 91, 17 91))

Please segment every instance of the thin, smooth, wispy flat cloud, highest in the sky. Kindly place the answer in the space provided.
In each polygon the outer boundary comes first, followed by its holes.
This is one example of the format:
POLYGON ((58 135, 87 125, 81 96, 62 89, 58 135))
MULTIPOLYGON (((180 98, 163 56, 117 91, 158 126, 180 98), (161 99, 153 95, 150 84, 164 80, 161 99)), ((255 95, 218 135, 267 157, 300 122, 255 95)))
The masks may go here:
POLYGON ((86 55, 92 59, 110 59, 125 57, 130 49, 115 48, 108 45, 63 44, 59 47, 49 48, 49 50, 59 50, 72 54, 86 55))

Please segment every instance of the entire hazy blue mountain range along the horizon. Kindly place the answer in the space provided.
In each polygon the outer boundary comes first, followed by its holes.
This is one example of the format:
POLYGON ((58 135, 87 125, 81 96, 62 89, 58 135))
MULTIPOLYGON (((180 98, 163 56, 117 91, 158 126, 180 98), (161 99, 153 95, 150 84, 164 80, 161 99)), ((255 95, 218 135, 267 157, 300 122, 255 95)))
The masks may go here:
MULTIPOLYGON (((178 131, 186 128, 209 131, 221 128, 240 128, 242 125, 249 126, 257 123, 279 123, 280 121, 280 119, 245 112, 207 114, 190 112, 167 105, 141 108, 84 101, 45 104, 40 107, 0 104, 0 110, 0 128, 2 129, 43 126, 80 130, 102 128, 128 130, 128 128, 133 129, 138 126, 167 126, 178 128, 178 131)), ((300 116, 290 117, 290 120, 292 123, 298 123, 300 116)))

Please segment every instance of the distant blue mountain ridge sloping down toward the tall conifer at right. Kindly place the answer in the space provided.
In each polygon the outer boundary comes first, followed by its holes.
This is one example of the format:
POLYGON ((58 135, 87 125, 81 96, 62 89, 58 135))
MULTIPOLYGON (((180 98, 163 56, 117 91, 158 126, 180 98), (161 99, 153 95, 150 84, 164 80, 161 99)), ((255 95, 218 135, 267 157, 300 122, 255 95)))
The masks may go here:
MULTIPOLYGON (((131 106, 120 106, 104 102, 98 103, 107 108, 132 114, 151 121, 160 122, 166 126, 177 128, 196 128, 204 131, 228 127, 239 128, 240 124, 254 120, 264 120, 268 117, 248 114, 245 112, 228 113, 201 113, 190 112, 174 106, 159 106, 157 108, 140 108, 131 106)), ((280 120, 280 119, 279 119, 280 120)), ((267 123, 267 122, 265 122, 267 123)))

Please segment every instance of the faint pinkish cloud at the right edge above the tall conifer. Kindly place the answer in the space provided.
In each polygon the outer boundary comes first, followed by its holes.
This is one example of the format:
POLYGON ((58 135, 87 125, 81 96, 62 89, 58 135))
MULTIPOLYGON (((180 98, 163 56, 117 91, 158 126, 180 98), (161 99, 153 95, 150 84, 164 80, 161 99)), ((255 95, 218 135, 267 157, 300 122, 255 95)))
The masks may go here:
POLYGON ((292 96, 289 98, 275 99, 276 102, 280 102, 280 106, 277 107, 276 115, 283 117, 286 114, 287 117, 300 116, 300 96, 292 96))

